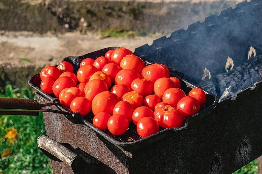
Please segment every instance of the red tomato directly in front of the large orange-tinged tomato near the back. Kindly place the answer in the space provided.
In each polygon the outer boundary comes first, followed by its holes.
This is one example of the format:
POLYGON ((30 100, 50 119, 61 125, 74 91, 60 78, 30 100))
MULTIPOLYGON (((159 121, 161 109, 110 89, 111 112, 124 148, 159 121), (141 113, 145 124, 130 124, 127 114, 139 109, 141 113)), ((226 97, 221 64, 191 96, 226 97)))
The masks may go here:
POLYGON ((122 69, 116 74, 115 84, 131 86, 133 80, 141 78, 140 74, 134 69, 122 69))

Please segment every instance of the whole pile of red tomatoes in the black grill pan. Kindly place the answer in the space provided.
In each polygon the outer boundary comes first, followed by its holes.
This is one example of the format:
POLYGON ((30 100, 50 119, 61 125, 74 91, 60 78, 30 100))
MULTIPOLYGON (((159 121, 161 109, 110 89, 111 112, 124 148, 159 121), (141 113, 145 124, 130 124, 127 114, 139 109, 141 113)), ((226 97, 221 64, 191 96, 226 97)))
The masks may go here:
POLYGON ((93 125, 113 135, 124 134, 130 122, 142 138, 157 133, 159 126, 182 127, 206 102, 202 89, 195 88, 186 96, 180 80, 170 77, 165 65, 145 66, 124 47, 95 60, 86 58, 77 74, 73 71, 66 61, 46 66, 40 72, 41 89, 81 116, 92 110, 93 125))

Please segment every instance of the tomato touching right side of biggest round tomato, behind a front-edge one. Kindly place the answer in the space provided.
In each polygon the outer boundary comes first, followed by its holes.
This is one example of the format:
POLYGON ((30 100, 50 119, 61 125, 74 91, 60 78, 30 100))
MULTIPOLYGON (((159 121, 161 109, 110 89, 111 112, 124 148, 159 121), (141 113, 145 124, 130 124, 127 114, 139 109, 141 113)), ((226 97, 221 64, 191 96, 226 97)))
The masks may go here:
POLYGON ((119 101, 118 103, 116 103, 113 109, 113 115, 124 115, 127 118, 128 122, 132 122, 133 111, 134 108, 130 103, 128 103, 127 101, 119 101))

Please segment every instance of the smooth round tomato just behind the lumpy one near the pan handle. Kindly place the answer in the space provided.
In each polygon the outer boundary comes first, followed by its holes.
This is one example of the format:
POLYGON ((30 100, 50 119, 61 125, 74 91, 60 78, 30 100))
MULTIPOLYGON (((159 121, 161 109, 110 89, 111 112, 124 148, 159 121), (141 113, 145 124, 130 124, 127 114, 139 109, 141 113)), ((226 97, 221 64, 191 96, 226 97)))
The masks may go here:
POLYGON ((60 92, 65 88, 76 87, 76 83, 70 77, 64 76, 58 78, 52 87, 54 95, 58 98, 60 92))

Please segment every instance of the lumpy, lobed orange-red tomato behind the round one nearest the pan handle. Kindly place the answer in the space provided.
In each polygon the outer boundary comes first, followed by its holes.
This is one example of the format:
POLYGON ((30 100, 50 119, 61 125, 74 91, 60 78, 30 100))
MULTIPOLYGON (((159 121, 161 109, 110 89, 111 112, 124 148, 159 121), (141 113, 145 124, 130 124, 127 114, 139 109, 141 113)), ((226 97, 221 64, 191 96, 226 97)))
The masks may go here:
POLYGON ((83 97, 85 93, 77 87, 65 88, 59 93, 60 103, 66 107, 70 107, 72 100, 76 97, 83 97))

